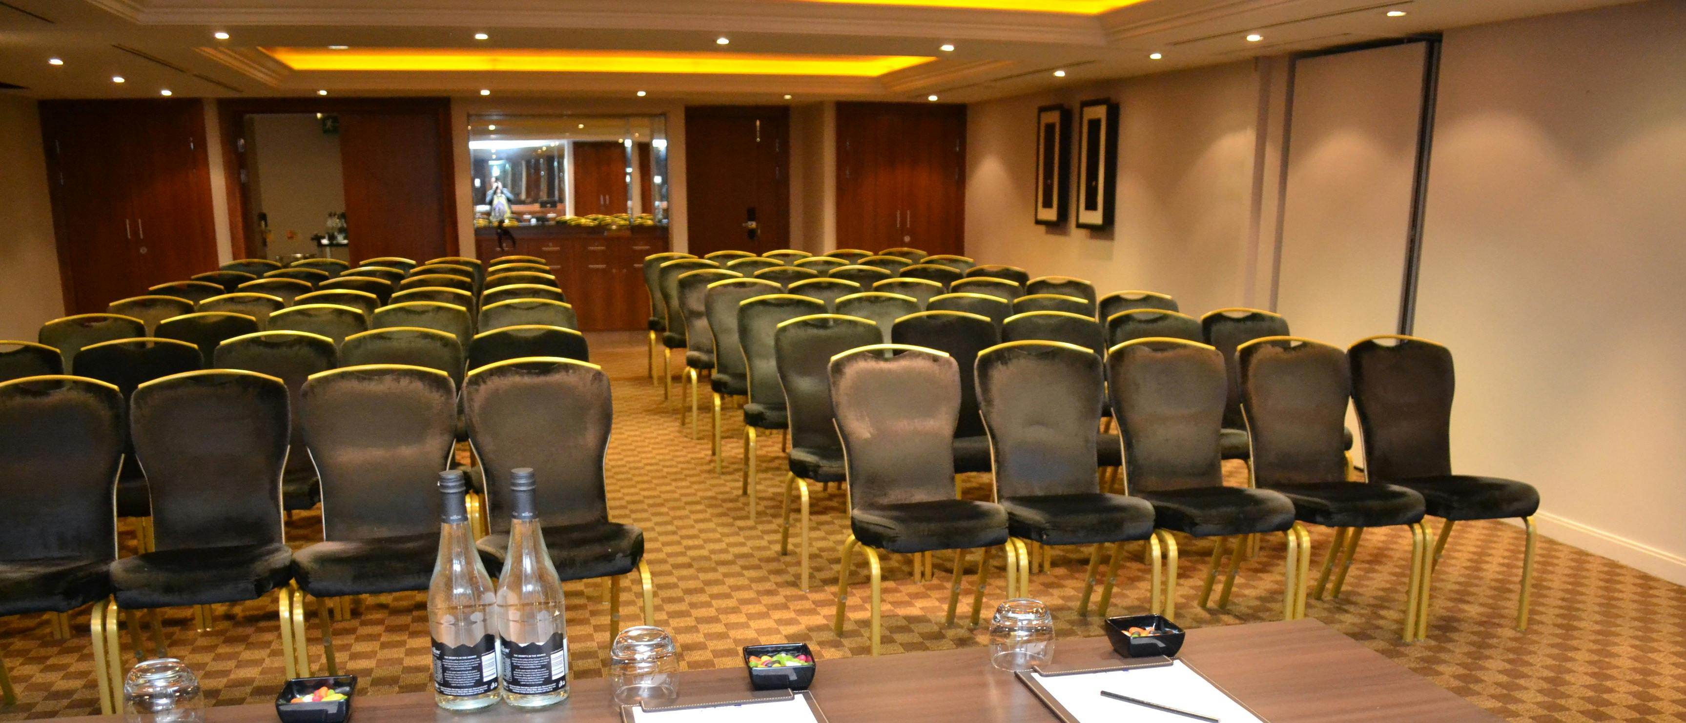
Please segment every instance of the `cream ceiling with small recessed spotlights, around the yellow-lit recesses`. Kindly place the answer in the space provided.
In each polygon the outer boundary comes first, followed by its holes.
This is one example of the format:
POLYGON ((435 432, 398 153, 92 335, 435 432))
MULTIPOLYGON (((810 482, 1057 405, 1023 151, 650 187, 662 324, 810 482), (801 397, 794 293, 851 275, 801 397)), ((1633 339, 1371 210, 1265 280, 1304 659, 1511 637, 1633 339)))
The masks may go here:
MULTIPOLYGON (((0 91, 30 98, 452 94, 651 108, 978 101, 1630 0, 1146 0, 1101 15, 801 0, 0 0, 0 91), (1388 17, 1404 10, 1404 17, 1388 17), (229 40, 212 32, 229 32, 229 40), (474 40, 486 32, 489 40, 474 40), (1244 35, 1258 32, 1259 42, 1244 35), (727 47, 717 46, 730 37, 727 47), (956 49, 942 52, 949 42, 956 49), (880 78, 297 72, 258 47, 506 47, 932 56, 880 78), (1148 59, 1162 52, 1163 59, 1148 59), (61 57, 62 66, 49 66, 61 57), (1066 78, 1054 78, 1066 69, 1066 78), (126 83, 111 83, 123 76, 126 83), (634 98, 634 91, 647 91, 634 98)), ((1032 5, 1027 2, 1027 5, 1032 5)))

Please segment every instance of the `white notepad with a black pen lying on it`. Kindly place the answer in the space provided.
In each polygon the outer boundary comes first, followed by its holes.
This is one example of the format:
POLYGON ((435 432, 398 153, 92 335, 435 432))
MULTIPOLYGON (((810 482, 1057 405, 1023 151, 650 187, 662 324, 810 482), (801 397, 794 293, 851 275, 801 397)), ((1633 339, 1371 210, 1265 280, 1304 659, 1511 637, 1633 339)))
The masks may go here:
POLYGON ((1101 691, 1140 698, 1222 723, 1264 723, 1182 661, 1163 667, 1044 676, 1028 672, 1077 723, 1194 723, 1194 718, 1111 699, 1101 691))

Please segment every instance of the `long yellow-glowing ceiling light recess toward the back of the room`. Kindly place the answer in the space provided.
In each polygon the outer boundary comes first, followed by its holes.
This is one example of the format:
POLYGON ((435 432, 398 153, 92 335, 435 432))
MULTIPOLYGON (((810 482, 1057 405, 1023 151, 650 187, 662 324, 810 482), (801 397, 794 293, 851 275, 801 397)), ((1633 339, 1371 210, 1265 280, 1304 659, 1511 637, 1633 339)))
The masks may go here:
POLYGON ((541 49, 263 47, 293 71, 676 72, 723 76, 877 78, 929 56, 806 56, 752 52, 631 52, 541 49))

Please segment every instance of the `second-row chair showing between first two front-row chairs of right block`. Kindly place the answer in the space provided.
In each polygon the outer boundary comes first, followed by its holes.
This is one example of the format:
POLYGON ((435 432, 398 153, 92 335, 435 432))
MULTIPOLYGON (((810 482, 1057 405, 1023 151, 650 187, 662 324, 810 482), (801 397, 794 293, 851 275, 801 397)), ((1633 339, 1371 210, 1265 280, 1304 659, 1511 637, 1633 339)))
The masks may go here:
MULTIPOLYGON (((976 313, 926 310, 897 319, 890 327, 890 339, 895 344, 936 349, 954 359, 958 369, 973 369, 978 352, 1001 342, 998 329, 988 317, 976 313)), ((954 467, 956 474, 990 472, 990 438, 983 430, 983 418, 978 416, 975 374, 959 376, 959 406, 954 410, 954 428, 949 436, 953 438, 949 467, 954 467)), ((959 477, 949 482, 954 485, 951 492, 958 497, 959 477)))

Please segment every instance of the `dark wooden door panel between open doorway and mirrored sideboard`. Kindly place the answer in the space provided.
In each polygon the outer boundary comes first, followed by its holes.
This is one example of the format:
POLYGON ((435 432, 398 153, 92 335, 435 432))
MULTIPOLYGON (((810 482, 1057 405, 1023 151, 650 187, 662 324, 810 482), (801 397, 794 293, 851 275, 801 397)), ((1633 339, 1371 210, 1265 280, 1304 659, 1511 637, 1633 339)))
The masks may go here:
MULTIPOLYGON (((346 236, 352 260, 447 256, 447 148, 440 115, 351 111, 339 115, 339 170, 346 185, 346 236)), ((450 236, 454 238, 454 236, 450 236)))

